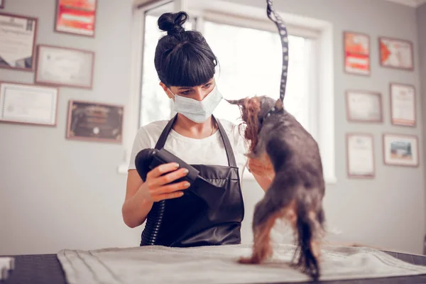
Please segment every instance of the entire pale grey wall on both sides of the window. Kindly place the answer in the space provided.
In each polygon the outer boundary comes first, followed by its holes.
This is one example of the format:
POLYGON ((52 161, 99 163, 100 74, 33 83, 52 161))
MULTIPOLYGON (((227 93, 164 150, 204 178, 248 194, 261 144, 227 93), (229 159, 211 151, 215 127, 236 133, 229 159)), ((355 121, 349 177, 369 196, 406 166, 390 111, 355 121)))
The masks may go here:
MULTIPOLYGON (((263 0, 229 1, 264 6, 263 0)), ((53 32, 54 0, 7 1, 5 12, 39 18, 38 43, 94 50, 97 58, 92 91, 60 89, 56 128, 0 124, 0 254, 138 245, 141 228, 128 229, 121 220, 126 176, 116 174, 116 166, 121 163, 123 148, 64 138, 69 99, 128 102, 131 66, 129 2, 99 1, 96 38, 84 38, 53 32)), ((415 9, 370 0, 281 0, 275 1, 275 6, 282 11, 320 18, 334 25, 338 182, 327 187, 325 209, 330 226, 342 230, 342 235, 338 236, 342 240, 420 253, 425 232, 423 159, 420 168, 385 167, 381 154, 381 133, 385 131, 421 136, 420 107, 417 109, 419 124, 415 129, 391 127, 388 109, 389 82, 415 84, 420 89, 415 9), (371 35, 371 77, 342 72, 344 30, 371 35), (379 67, 378 35, 413 40, 415 72, 379 67), (383 125, 346 122, 344 91, 349 88, 383 93, 383 125), (374 134, 376 179, 346 178, 344 135, 348 131, 374 134)), ((0 80, 31 83, 33 73, 0 70, 0 80)), ((260 197, 261 190, 257 185, 244 182, 247 206, 244 239, 249 238, 253 203, 260 197)))

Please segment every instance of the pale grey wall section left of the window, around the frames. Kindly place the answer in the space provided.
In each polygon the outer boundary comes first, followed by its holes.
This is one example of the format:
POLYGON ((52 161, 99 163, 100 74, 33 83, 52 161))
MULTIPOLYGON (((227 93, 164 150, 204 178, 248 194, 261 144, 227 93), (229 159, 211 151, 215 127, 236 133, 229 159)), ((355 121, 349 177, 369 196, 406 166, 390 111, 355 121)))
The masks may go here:
MULTIPOLYGON (((56 128, 0 124, 0 254, 138 241, 121 219, 122 146, 65 139, 70 99, 129 99, 131 1, 99 1, 95 38, 55 33, 55 6, 55 0, 13 0, 3 12, 38 17, 37 43, 93 50, 94 86, 60 88, 56 128)), ((34 73, 0 69, 0 80, 33 83, 34 73)))

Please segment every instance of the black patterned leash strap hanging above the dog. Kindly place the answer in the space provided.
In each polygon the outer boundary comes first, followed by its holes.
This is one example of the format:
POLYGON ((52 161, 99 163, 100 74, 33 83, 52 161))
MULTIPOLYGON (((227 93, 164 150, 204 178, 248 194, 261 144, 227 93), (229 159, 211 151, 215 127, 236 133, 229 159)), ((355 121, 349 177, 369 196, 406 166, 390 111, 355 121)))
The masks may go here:
MULTIPOLYGON (((283 48, 283 70, 281 70, 280 100, 281 102, 284 102, 285 87, 287 85, 287 74, 288 74, 288 33, 287 33, 287 28, 285 27, 285 23, 283 19, 273 9, 272 2, 273 0, 266 0, 266 3, 268 4, 266 13, 268 15, 268 18, 270 18, 271 21, 275 23, 280 33, 281 46, 283 48)), ((281 109, 276 109, 275 107, 273 107, 270 111, 268 111, 266 116, 270 116, 271 114, 280 110, 281 109)))

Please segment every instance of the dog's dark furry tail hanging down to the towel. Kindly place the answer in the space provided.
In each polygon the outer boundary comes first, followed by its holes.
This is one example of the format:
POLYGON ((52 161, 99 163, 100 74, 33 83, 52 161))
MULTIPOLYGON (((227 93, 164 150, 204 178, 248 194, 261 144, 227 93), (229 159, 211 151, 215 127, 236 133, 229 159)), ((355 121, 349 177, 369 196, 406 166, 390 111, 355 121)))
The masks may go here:
MULTIPOLYGON (((320 278, 320 237, 324 231, 324 211, 320 206, 317 212, 312 211, 312 204, 307 198, 297 198, 295 233, 297 248, 295 266, 310 275, 315 281, 320 278)), ((294 261, 294 259, 293 259, 294 261)))

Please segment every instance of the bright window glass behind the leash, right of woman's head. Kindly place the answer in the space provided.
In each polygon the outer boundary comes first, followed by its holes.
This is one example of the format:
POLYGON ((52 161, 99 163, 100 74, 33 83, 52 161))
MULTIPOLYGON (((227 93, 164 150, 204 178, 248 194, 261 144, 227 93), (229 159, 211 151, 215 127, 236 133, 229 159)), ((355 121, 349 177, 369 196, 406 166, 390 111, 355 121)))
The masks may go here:
MULTIPOLYGON (((282 47, 277 31, 263 31, 242 26, 204 21, 204 37, 219 60, 217 84, 226 99, 241 99, 266 95, 278 99, 282 70, 282 47), (226 40, 224 40, 226 39, 226 40)), ((310 77, 310 39, 289 36, 289 73, 285 108, 308 131, 311 124, 310 97, 307 86, 310 77)), ((214 114, 237 122, 236 106, 222 101, 214 114)))

